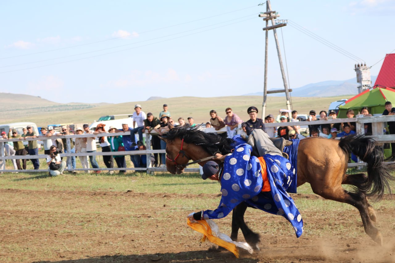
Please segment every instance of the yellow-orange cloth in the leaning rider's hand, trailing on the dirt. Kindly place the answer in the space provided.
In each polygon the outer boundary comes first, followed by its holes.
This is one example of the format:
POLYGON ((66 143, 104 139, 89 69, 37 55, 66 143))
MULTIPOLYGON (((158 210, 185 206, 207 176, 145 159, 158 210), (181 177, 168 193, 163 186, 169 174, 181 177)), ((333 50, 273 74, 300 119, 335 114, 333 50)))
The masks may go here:
POLYGON ((218 246, 222 246, 223 248, 226 248, 230 252, 232 252, 237 258, 239 258, 239 250, 237 249, 235 244, 229 243, 225 240, 222 240, 218 237, 215 237, 211 231, 211 227, 209 224, 207 224, 206 220, 197 220, 196 222, 191 222, 188 218, 187 224, 194 230, 198 231, 199 233, 203 234, 203 237, 201 239, 202 242, 204 242, 207 239, 211 243, 217 244, 218 246))

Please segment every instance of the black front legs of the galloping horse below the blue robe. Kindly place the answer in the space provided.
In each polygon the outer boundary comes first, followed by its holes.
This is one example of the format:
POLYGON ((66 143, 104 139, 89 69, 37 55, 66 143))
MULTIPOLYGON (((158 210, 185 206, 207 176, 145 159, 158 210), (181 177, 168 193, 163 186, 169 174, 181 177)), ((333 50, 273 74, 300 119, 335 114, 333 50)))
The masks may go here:
POLYGON ((255 250, 259 251, 258 243, 260 242, 260 236, 258 233, 254 233, 251 229, 248 228, 246 223, 244 222, 244 214, 247 209, 247 204, 245 202, 240 203, 233 209, 232 214, 232 233, 230 238, 233 241, 237 241, 237 234, 239 232, 239 228, 243 232, 244 239, 250 246, 255 250))

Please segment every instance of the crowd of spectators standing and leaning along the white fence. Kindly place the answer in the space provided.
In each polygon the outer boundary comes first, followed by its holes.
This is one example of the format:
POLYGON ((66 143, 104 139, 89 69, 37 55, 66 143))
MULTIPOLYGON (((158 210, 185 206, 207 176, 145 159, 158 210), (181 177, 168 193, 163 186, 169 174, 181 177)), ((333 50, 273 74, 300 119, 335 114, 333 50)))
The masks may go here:
MULTIPOLYGON (((395 108, 392 107, 391 102, 387 101, 385 104, 386 110, 382 115, 395 115, 395 108)), ((102 148, 102 152, 114 152, 114 155, 103 155, 103 163, 106 168, 114 168, 114 163, 118 168, 126 168, 126 156, 116 155, 115 152, 123 151, 135 151, 135 150, 146 150, 143 143, 143 133, 152 134, 152 149, 153 150, 164 150, 166 149, 166 142, 160 140, 158 136, 166 134, 167 131, 174 128, 175 126, 184 127, 194 127, 197 124, 194 123, 194 118, 189 116, 186 120, 182 117, 177 119, 178 124, 171 117, 168 111, 167 104, 163 105, 163 111, 158 115, 158 118, 152 113, 145 113, 142 111, 140 104, 135 104, 133 113, 133 127, 129 127, 127 123, 122 123, 121 127, 105 127, 103 123, 99 123, 94 130, 89 129, 88 124, 83 124, 82 127, 77 127, 74 129, 75 134, 94 134, 97 135, 98 145, 102 148), (130 131, 131 135, 116 135, 120 132, 130 131), (114 136, 103 136, 102 133, 114 133, 114 136), (115 162, 114 162, 115 160, 115 162)), ((275 118, 273 114, 265 116, 264 120, 258 118, 258 109, 254 106, 248 107, 247 113, 250 117, 249 120, 243 122, 237 114, 233 113, 230 107, 225 109, 225 117, 221 118, 215 110, 209 112, 210 120, 205 124, 199 124, 205 128, 214 128, 215 131, 220 131, 219 133, 222 137, 232 138, 236 135, 236 131, 240 128, 241 132, 245 132, 246 135, 254 129, 261 129, 265 131, 269 137, 282 137, 285 139, 303 139, 305 137, 324 137, 328 139, 336 139, 339 137, 345 137, 348 135, 355 134, 356 124, 355 122, 340 122, 334 124, 314 124, 317 120, 329 120, 336 119, 337 113, 335 111, 330 111, 327 113, 322 110, 319 114, 316 111, 311 110, 306 115, 298 115, 297 111, 289 111, 285 109, 280 109, 278 116, 275 118), (306 118, 305 118, 306 117, 306 118), (308 125, 308 130, 303 130, 298 125, 299 121, 306 120, 310 122, 308 125), (267 123, 279 123, 281 126, 277 127, 265 127, 267 123), (303 133, 307 131, 307 133, 303 133)), ((369 113, 367 107, 363 107, 359 113, 363 116, 372 116, 369 113)), ((348 110, 347 118, 354 118, 355 113, 352 109, 348 110)), ((395 122, 388 122, 389 133, 395 133, 395 122)), ((365 134, 372 134, 372 125, 365 124, 364 127, 365 134)), ((66 162, 62 160, 59 153, 68 153, 68 147, 66 145, 70 144, 70 153, 94 153, 97 151, 96 137, 81 137, 81 138, 58 138, 61 135, 69 135, 71 131, 68 126, 62 126, 61 131, 55 131, 53 126, 42 127, 41 133, 37 134, 32 126, 27 126, 23 129, 23 134, 18 134, 16 129, 10 129, 8 134, 2 131, 2 139, 19 139, 18 141, 5 143, 4 151, 6 155, 16 155, 24 156, 29 154, 30 161, 33 164, 34 169, 39 169, 40 162, 39 159, 34 158, 38 155, 38 143, 37 141, 28 141, 28 146, 25 147, 23 141, 28 138, 40 137, 44 154, 47 154, 47 166, 49 169, 49 175, 56 176, 63 173, 66 168, 66 162)), ((392 159, 395 160, 395 143, 391 143, 392 148, 392 159)), ((96 161, 95 155, 88 156, 78 156, 81 166, 85 169, 90 169, 90 167, 95 168, 95 173, 101 173, 98 162, 96 161)), ((355 156, 354 156, 355 157, 355 156)), ((76 167, 76 157, 71 156, 71 167, 75 169, 76 167)), ((352 159, 354 160, 353 156, 352 159)), ((135 154, 130 155, 130 160, 135 168, 147 167, 147 158, 145 154, 135 154)), ((354 160, 356 161, 356 159, 354 160)), ((14 169, 26 169, 26 159, 12 160, 14 169), (22 165, 21 165, 22 162, 22 165)), ((152 165, 154 167, 166 167, 166 154, 155 153, 152 156, 152 165)), ((5 162, 0 160, 0 170, 4 169, 5 162)), ((87 171, 88 173, 90 171, 87 171)), ((124 169, 119 170, 120 173, 125 173, 124 169)), ((76 173, 75 171, 73 173, 76 173)), ((114 173, 114 171, 109 171, 109 173, 114 173)))

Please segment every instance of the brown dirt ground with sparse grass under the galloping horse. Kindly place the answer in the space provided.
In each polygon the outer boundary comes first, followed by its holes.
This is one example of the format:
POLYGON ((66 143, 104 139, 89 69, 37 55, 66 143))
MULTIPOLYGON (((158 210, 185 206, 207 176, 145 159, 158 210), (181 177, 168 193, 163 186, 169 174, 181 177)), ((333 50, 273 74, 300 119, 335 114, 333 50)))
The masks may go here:
MULTIPOLYGON (((363 233, 356 209, 301 211, 305 233, 299 239, 281 217, 249 209, 245 219, 260 233, 261 251, 236 259, 200 243, 201 235, 186 225, 176 204, 199 196, 9 189, 0 197, 15 204, 0 206, 2 262, 395 262, 394 205, 376 211, 381 247, 363 233)), ((299 198, 320 197, 296 195, 296 203, 299 198)), ((222 232, 230 234, 230 220, 216 221, 222 232)))

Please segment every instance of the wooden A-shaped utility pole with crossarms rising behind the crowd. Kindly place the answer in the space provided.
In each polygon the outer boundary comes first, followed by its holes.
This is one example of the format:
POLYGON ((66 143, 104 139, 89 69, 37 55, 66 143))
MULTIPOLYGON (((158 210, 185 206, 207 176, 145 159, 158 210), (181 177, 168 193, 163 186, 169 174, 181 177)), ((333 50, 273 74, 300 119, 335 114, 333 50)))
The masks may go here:
POLYGON ((266 27, 263 28, 263 30, 265 31, 265 77, 264 77, 264 84, 263 84, 262 119, 265 118, 267 94, 285 92, 287 109, 292 111, 292 103, 291 103, 291 95, 290 95, 290 92, 292 92, 292 90, 288 90, 287 79, 286 79, 285 72, 284 72, 284 66, 282 65, 281 51, 280 51, 280 46, 278 45, 278 38, 277 38, 277 32, 276 32, 276 28, 286 26, 287 24, 286 23, 276 24, 275 19, 279 16, 280 15, 277 14, 276 11, 272 11, 269 0, 266 1, 266 12, 261 12, 259 14, 259 17, 263 17, 263 21, 266 22, 266 27), (269 20, 272 23, 271 26, 269 26, 269 20), (284 90, 269 90, 269 91, 267 91, 267 64, 268 64, 267 46, 268 46, 268 42, 269 42, 268 41, 268 31, 269 30, 273 30, 273 33, 274 33, 274 38, 275 38, 276 47, 277 47, 278 61, 280 62, 282 81, 284 83, 284 90))

